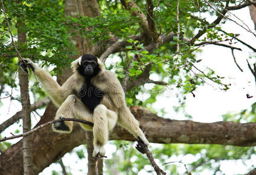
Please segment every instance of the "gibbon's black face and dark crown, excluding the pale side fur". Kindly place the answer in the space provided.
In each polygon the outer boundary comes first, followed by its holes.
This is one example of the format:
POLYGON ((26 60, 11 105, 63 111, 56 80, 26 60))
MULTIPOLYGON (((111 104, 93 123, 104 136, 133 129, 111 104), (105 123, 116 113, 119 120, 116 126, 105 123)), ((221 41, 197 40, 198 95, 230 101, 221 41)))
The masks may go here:
POLYGON ((95 77, 100 71, 97 60, 97 57, 91 54, 83 55, 77 68, 78 72, 84 77, 95 77))

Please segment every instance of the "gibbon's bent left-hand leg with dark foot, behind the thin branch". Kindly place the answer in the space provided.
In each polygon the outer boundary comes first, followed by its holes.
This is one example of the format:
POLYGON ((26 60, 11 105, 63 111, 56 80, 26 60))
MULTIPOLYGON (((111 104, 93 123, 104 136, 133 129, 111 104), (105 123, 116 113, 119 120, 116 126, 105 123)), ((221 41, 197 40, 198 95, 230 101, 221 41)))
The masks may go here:
MULTIPOLYGON (((55 119, 79 118, 93 122, 92 113, 84 106, 75 95, 69 95, 56 112, 55 119)), ((56 122, 52 125, 54 132, 71 133, 72 121, 56 122)), ((86 130, 92 130, 92 126, 80 124, 86 130)))

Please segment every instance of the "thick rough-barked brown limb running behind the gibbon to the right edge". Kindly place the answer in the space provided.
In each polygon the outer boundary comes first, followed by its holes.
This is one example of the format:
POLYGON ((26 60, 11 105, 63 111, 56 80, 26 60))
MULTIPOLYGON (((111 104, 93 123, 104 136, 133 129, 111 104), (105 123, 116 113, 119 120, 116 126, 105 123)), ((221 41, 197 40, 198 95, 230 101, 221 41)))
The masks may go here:
MULTIPOLYGON (((133 115, 140 121, 150 142, 186 144, 222 144, 236 146, 256 145, 256 124, 234 122, 197 123, 160 118, 143 107, 132 107, 133 115)), ((50 115, 51 112, 45 112, 50 115)), ((65 153, 81 144, 86 144, 86 132, 75 124, 71 134, 54 133, 51 127, 33 133, 34 173, 40 173, 65 153)), ((135 141, 120 126, 110 133, 109 139, 135 141)), ((106 153, 106 156, 109 153, 106 153)), ((23 174, 22 141, 0 155, 0 174, 23 174)))

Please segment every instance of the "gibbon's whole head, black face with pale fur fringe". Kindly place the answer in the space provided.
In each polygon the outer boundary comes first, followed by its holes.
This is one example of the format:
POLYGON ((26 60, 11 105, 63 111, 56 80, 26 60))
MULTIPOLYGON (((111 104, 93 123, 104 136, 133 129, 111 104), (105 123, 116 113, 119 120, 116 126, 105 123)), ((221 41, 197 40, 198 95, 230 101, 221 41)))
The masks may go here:
POLYGON ((85 54, 71 63, 73 72, 78 72, 83 77, 95 77, 104 71, 104 65, 100 59, 85 54))

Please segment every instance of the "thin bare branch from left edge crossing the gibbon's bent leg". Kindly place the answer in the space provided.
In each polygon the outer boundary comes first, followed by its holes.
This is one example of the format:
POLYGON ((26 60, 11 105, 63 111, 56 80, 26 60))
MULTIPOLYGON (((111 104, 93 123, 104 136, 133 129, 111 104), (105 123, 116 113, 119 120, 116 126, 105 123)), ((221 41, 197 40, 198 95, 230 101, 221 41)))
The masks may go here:
POLYGON ((59 122, 60 121, 76 121, 78 123, 88 124, 89 126, 92 126, 92 127, 94 126, 94 123, 91 123, 90 121, 86 121, 86 120, 83 120, 83 119, 78 119, 78 118, 54 119, 53 121, 49 121, 48 123, 42 124, 42 125, 34 128, 34 129, 30 130, 29 132, 23 133, 21 135, 14 135, 14 136, 10 136, 8 138, 7 137, 1 138, 0 142, 7 141, 7 140, 10 140, 10 139, 14 139, 14 138, 21 138, 21 137, 25 137, 25 136, 31 135, 33 132, 36 132, 37 130, 42 129, 43 127, 49 126, 50 124, 56 123, 58 121, 59 122))

